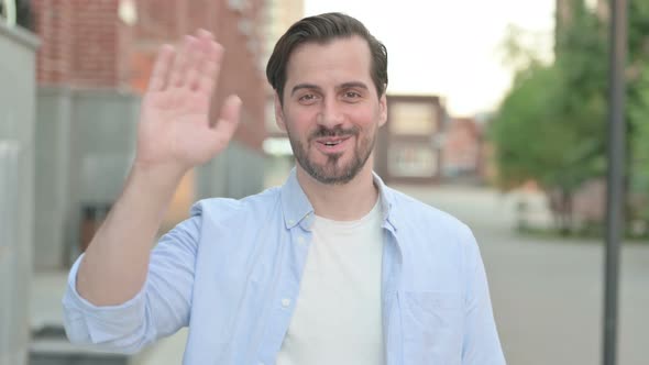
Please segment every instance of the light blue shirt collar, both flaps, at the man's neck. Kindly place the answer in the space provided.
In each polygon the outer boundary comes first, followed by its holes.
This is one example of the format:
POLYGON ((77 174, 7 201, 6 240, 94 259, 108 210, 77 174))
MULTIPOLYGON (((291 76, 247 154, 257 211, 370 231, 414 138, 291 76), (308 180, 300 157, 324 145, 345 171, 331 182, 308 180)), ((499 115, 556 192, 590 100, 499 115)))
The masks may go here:
MULTIPOLYGON (((394 193, 376 175, 372 173, 374 185, 378 189, 381 197, 381 211, 383 213, 384 226, 392 228, 396 231, 396 223, 393 211, 394 193)), ((307 198, 307 195, 297 181, 295 167, 290 170, 286 182, 282 186, 282 209, 284 212, 284 224, 287 229, 300 225, 309 229, 314 220, 314 207, 307 198)))

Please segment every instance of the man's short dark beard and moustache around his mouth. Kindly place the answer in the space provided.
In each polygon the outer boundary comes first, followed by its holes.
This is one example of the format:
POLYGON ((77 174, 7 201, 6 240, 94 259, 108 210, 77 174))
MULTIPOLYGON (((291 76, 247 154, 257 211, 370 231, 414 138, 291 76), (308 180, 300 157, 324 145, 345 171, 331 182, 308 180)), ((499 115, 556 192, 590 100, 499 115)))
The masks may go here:
POLYGON ((376 142, 376 131, 361 137, 361 130, 358 126, 343 130, 340 125, 334 129, 327 129, 319 125, 318 129, 306 140, 306 146, 305 143, 297 136, 293 135, 288 129, 287 133, 293 154, 300 167, 317 181, 327 185, 343 185, 351 181, 363 166, 365 166, 367 158, 370 158, 370 155, 372 154, 372 150, 374 150, 374 143, 376 142), (346 164, 340 162, 340 158, 343 155, 342 153, 327 155, 324 163, 316 163, 314 159, 309 158, 309 147, 312 143, 316 143, 314 142, 316 139, 340 136, 354 136, 356 140, 356 145, 353 148, 351 159, 346 164))

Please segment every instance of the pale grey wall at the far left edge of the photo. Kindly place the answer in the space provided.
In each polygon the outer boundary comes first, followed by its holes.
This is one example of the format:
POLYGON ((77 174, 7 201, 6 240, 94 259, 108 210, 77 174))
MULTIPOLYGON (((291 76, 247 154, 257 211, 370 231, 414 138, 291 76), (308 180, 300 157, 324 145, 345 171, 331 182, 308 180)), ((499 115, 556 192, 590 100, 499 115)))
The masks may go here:
POLYGON ((0 22, 0 365, 26 364, 37 40, 0 22))

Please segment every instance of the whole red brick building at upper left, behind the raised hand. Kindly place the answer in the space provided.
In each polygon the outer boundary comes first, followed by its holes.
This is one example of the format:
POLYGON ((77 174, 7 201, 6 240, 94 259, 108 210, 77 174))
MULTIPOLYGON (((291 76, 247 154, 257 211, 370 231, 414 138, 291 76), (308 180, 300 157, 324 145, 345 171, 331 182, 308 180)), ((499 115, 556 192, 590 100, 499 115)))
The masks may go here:
POLYGON ((133 26, 119 16, 127 0, 34 0, 41 85, 80 88, 130 88, 143 92, 156 52, 184 34, 204 27, 226 47, 215 118, 230 93, 244 103, 235 139, 261 151, 265 139, 263 0, 130 0, 136 8, 133 26), (232 3, 242 4, 232 9, 232 3))

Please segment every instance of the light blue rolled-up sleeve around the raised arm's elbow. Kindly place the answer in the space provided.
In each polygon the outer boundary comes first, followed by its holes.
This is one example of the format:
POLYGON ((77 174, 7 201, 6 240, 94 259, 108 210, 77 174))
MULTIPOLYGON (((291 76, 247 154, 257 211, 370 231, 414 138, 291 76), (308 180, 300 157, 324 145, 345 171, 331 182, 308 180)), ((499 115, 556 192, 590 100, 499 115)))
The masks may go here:
POLYGON ((81 255, 73 265, 63 298, 68 339, 102 350, 135 353, 188 324, 200 217, 182 222, 165 234, 151 253, 142 289, 117 306, 95 306, 76 290, 81 255))

